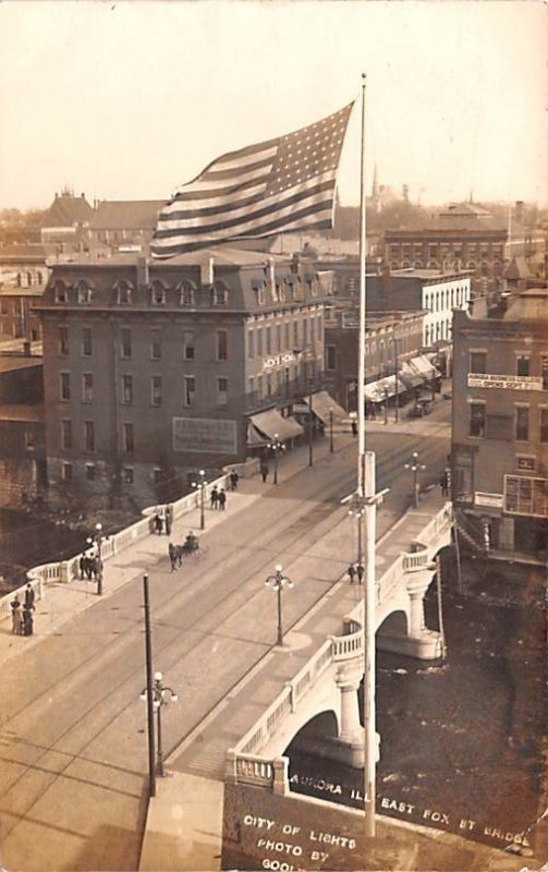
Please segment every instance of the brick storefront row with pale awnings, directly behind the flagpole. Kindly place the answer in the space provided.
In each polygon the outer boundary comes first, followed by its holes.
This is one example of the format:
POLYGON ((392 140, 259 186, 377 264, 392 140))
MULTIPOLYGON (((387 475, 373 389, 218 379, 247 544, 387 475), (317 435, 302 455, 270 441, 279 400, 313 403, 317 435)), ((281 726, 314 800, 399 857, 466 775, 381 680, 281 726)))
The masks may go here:
MULTIPOLYGON (((424 312, 368 312, 365 337, 366 393, 385 401, 385 389, 391 399, 429 380, 428 372, 413 372, 410 362, 421 356, 424 312), (398 372, 395 390, 394 375, 398 372), (402 379, 403 374, 403 380, 402 379), (380 387, 379 387, 380 386, 380 387)), ((326 389, 338 403, 357 408, 358 310, 353 306, 330 306, 326 312, 326 389)), ((424 364, 423 364, 424 365, 424 364)))

